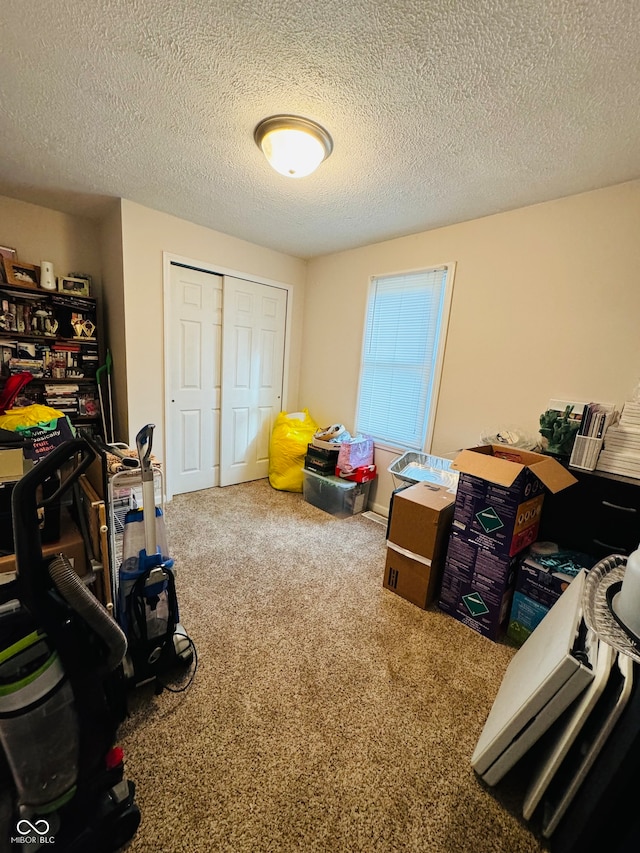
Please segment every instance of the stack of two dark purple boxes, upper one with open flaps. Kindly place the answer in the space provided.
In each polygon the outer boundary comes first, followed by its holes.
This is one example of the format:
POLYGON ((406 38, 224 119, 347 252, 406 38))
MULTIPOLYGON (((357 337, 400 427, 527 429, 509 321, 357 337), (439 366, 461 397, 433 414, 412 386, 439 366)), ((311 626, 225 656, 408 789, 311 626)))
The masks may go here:
POLYGON ((463 450, 440 607, 492 640, 509 616, 516 555, 538 535, 545 488, 576 482, 550 456, 503 445, 463 450))

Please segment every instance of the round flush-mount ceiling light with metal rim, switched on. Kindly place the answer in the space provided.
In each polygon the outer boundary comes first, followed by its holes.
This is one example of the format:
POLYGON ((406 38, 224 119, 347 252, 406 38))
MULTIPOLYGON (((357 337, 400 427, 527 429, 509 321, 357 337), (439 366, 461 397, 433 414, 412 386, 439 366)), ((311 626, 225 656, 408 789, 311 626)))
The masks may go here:
POLYGON ((270 116, 253 132, 256 145, 269 164, 287 178, 304 178, 333 151, 329 133, 301 116, 270 116))

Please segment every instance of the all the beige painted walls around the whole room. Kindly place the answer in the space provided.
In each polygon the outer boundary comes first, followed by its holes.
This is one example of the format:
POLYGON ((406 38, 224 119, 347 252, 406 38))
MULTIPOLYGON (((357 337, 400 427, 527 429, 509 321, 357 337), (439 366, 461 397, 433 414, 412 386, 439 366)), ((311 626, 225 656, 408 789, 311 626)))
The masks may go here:
MULTIPOLYGON (((483 429, 537 433, 551 397, 622 403, 640 380, 640 181, 390 240, 307 264, 129 201, 101 224, 0 197, 2 242, 89 272, 114 359, 117 437, 158 426, 164 456, 163 252, 294 285, 289 398, 354 428, 372 275, 457 263, 431 451, 483 429), (101 292, 102 291, 102 292, 101 292)), ((379 453, 378 510, 393 453, 379 453)))

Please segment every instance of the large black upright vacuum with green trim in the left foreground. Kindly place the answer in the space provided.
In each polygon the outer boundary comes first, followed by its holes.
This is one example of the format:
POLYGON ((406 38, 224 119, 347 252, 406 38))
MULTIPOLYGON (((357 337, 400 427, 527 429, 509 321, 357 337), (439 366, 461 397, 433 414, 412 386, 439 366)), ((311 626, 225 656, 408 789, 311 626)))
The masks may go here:
POLYGON ((1 850, 112 853, 140 822, 114 747, 125 715, 126 636, 69 560, 44 559, 40 545, 38 510, 93 458, 83 439, 66 442, 13 490, 17 573, 0 585, 1 850), (70 467, 39 501, 43 484, 70 467))

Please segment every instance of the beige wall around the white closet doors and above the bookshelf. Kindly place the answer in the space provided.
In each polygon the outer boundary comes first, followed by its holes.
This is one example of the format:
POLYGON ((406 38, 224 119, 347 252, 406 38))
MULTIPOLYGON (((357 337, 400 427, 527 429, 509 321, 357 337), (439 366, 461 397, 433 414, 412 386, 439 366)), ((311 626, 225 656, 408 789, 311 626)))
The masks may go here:
POLYGON ((293 285, 285 408, 297 407, 304 261, 119 199, 98 222, 0 196, 0 225, 3 245, 20 260, 52 261, 57 275, 93 276, 104 347, 113 356, 116 440, 131 443, 140 427, 155 423, 154 452, 164 458, 163 252, 293 285))

